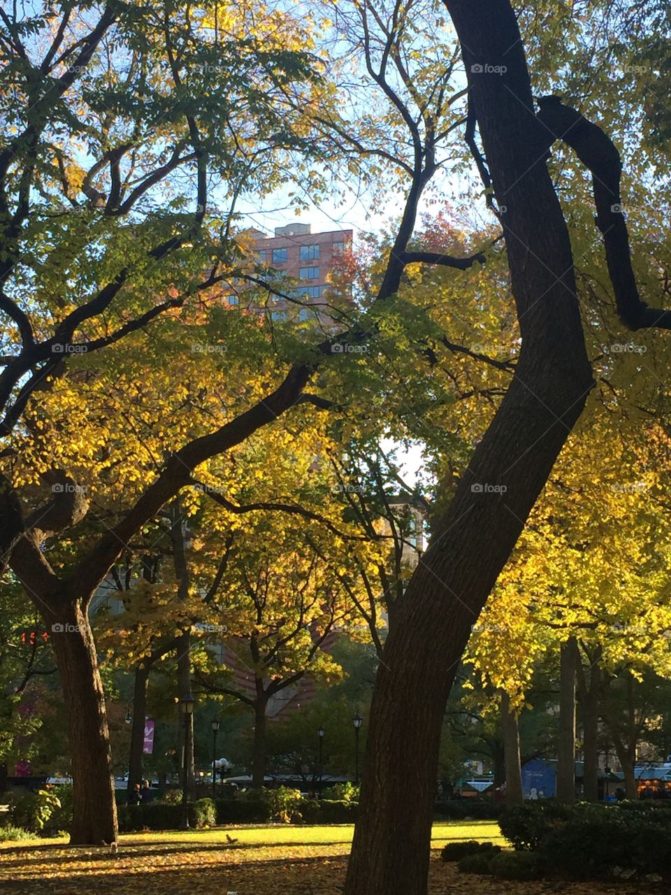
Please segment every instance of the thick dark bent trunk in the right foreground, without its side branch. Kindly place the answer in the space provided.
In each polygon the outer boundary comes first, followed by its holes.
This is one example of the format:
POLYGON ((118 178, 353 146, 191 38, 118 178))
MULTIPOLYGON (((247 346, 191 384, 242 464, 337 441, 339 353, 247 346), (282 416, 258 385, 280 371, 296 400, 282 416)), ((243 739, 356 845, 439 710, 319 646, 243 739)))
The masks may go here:
POLYGON ((472 0, 446 6, 505 208, 522 351, 386 639, 345 895, 427 891, 438 745, 454 669, 592 384, 571 246, 513 10, 507 0, 491 0, 486 10, 472 0), (482 72, 483 62, 503 73, 482 72))

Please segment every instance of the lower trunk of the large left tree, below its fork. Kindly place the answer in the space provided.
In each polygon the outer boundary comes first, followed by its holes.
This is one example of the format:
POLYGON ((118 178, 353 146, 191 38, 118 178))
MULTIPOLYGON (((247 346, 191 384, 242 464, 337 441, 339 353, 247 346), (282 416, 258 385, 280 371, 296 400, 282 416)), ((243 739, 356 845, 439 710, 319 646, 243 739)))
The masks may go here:
POLYGON ((72 756, 72 845, 116 840, 115 786, 105 695, 89 618, 79 604, 51 625, 72 756))

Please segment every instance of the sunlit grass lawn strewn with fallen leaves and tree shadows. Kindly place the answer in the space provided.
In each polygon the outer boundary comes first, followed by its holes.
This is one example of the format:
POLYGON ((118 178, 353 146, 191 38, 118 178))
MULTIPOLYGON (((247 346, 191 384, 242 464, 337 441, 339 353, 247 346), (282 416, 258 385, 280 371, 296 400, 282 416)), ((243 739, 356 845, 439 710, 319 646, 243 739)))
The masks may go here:
MULTIPOLYGON (((109 848, 71 848, 66 840, 0 843, 0 891, 53 895, 336 895, 342 892, 351 824, 333 826, 234 826, 189 832, 129 833, 116 855, 109 848), (230 842, 227 837, 236 841, 230 842)), ((536 895, 543 883, 492 881, 459 874, 439 860, 450 841, 505 844, 497 823, 436 823, 431 895, 468 892, 536 895)), ((554 888, 554 887, 553 887, 554 888)), ((584 887, 562 886, 578 895, 584 887)), ((606 889, 590 887, 590 891, 606 889)), ((612 891, 612 887, 609 891, 612 891)), ((619 895, 628 895, 618 886, 619 895)))

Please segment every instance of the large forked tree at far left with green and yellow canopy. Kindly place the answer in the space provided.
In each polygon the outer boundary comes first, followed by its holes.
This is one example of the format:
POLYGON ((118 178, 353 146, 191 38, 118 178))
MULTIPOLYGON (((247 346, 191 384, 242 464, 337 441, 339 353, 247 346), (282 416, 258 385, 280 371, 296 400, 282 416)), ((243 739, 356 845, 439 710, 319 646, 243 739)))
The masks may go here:
POLYGON ((89 544, 79 569, 55 572, 42 546, 89 511, 66 472, 69 458, 82 447, 94 460, 105 452, 108 416, 97 418, 97 434, 84 446, 81 432, 65 427, 62 434, 72 437, 61 440, 63 451, 36 462, 42 437, 59 428, 38 410, 36 420, 36 407, 60 388, 81 409, 81 387, 95 379, 92 371, 109 370, 110 349, 177 309, 198 310, 200 294, 239 260, 231 242, 239 196, 281 181, 286 159, 306 145, 291 132, 294 119, 281 99, 290 82, 298 92, 310 84, 310 59, 297 48, 310 42, 305 30, 278 14, 258 37, 254 9, 243 4, 225 7, 219 28, 203 15, 217 20, 219 10, 112 0, 91 13, 89 4, 68 3, 55 29, 50 4, 28 20, 3 15, 2 52, 11 63, 2 81, 0 406, 9 444, 0 537, 3 562, 9 559, 47 629, 60 635, 54 650, 71 726, 73 842, 116 835, 105 702, 87 614, 93 592, 123 544, 196 465, 293 406, 305 381, 294 371, 279 391, 271 388, 258 416, 228 421, 211 439, 174 452, 162 482, 159 474, 126 516, 126 529, 117 520, 97 546, 89 544), (231 199, 223 215, 209 214, 218 186, 231 199), (73 370, 83 354, 89 375, 73 370), (17 474, 17 460, 27 476, 17 474), (41 502, 33 490, 40 477, 51 487, 41 502))

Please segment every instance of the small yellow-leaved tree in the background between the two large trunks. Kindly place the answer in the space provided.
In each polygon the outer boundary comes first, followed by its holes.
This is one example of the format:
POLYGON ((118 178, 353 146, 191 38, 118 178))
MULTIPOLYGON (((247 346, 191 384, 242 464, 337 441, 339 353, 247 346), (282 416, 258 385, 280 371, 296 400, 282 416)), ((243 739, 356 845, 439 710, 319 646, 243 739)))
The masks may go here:
POLYGON ((254 787, 266 775, 268 704, 308 675, 330 680, 341 671, 327 647, 351 621, 355 573, 346 556, 330 550, 328 562, 324 550, 323 533, 259 516, 236 536, 223 575, 224 665, 238 673, 229 681, 225 669, 210 665, 197 680, 206 692, 232 696, 254 712, 254 787), (319 552, 310 546, 315 539, 322 541, 319 552))

